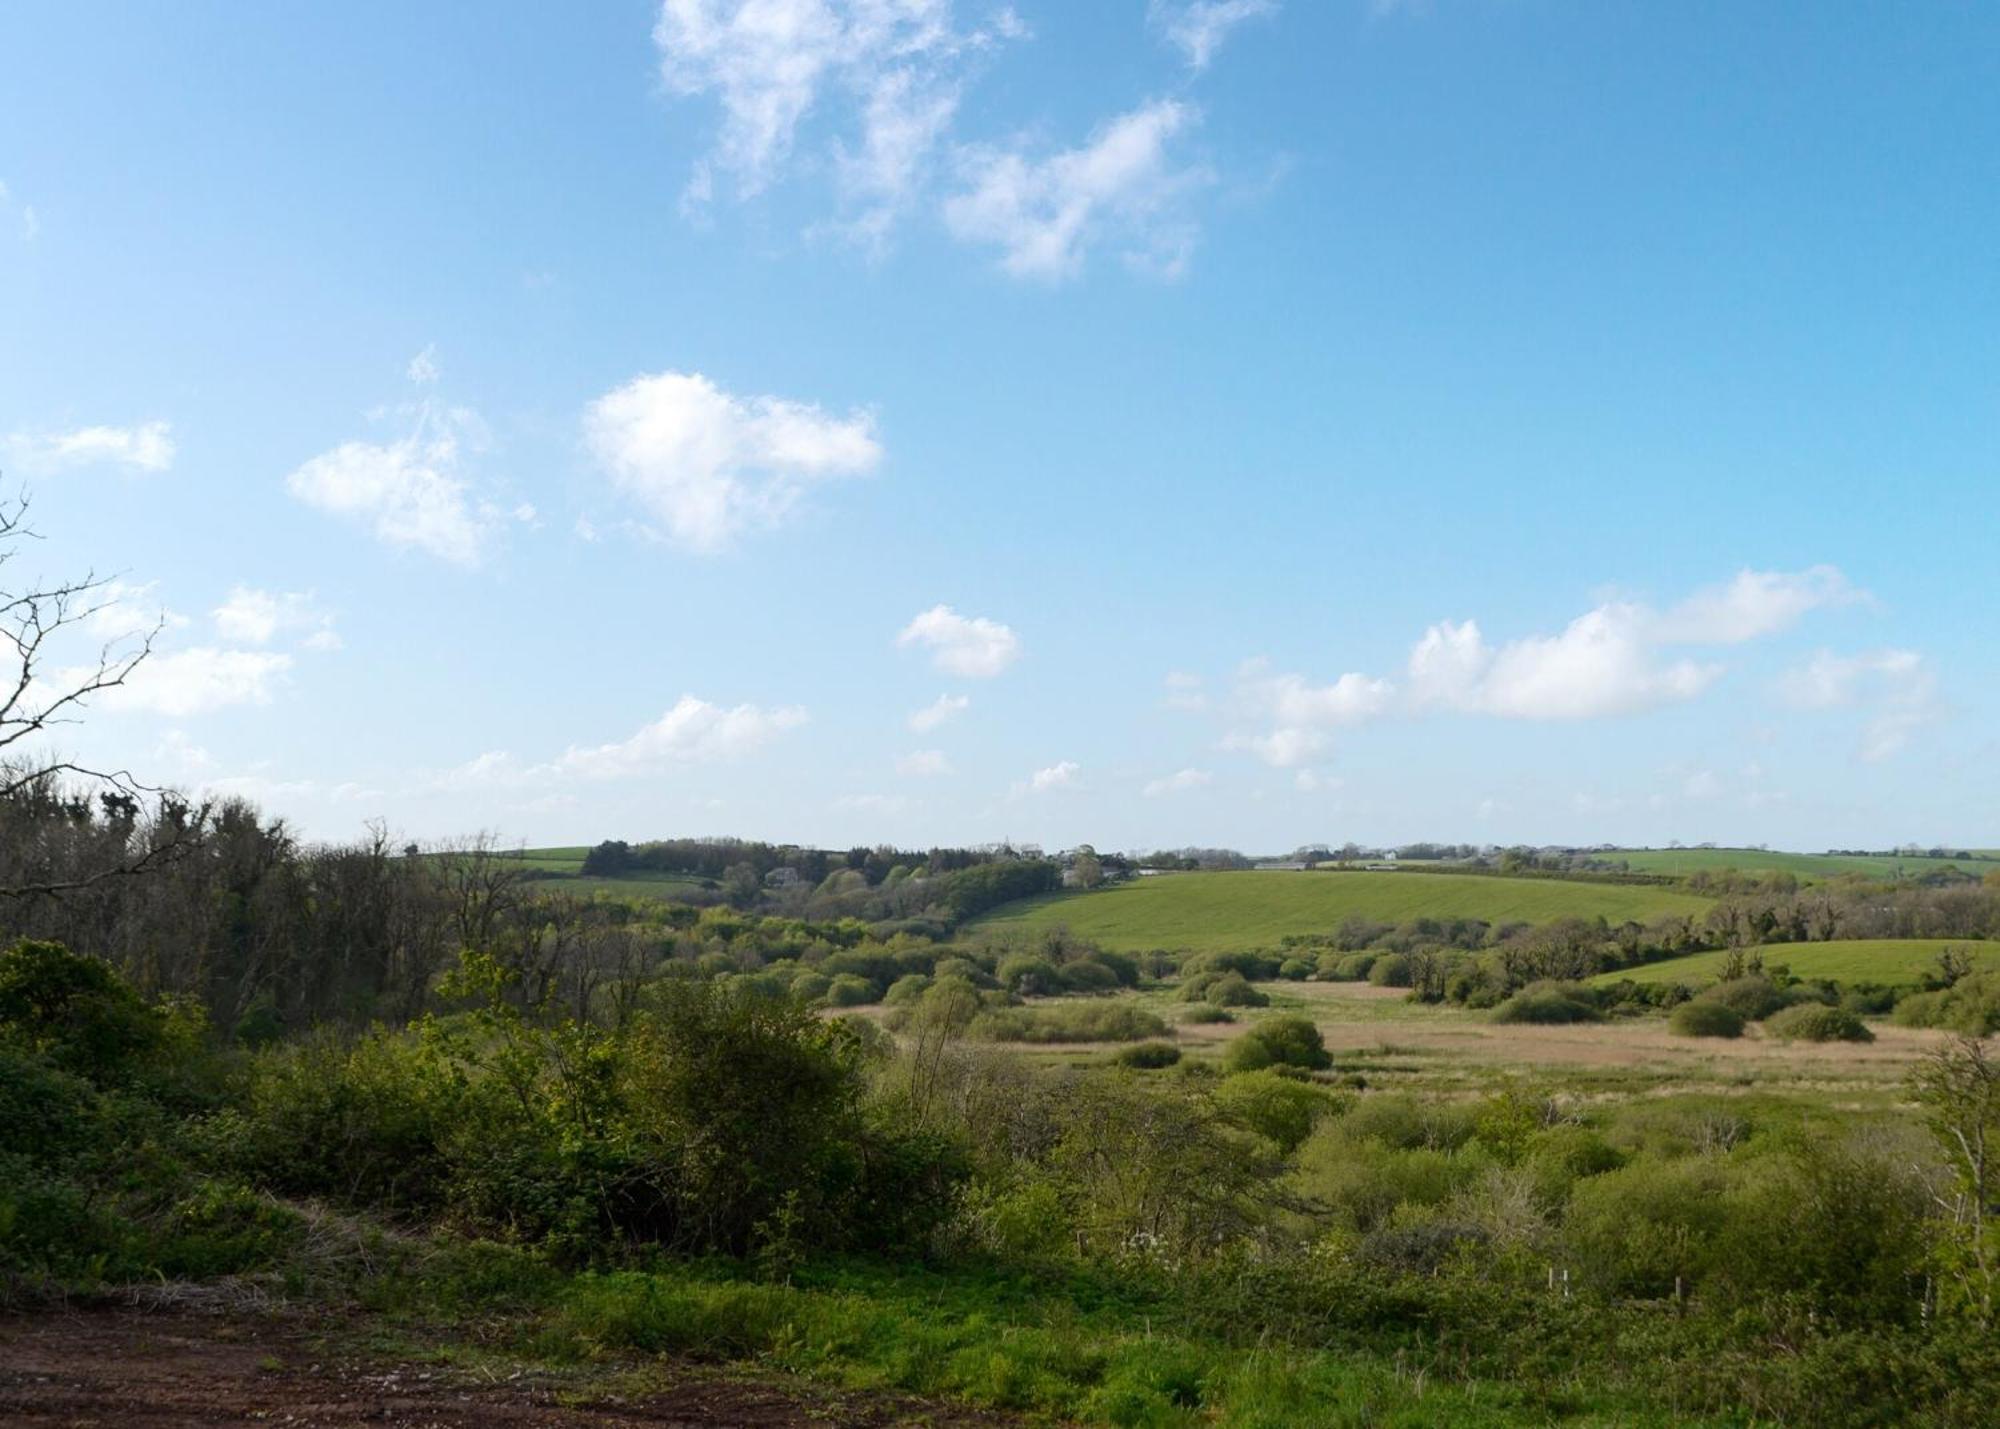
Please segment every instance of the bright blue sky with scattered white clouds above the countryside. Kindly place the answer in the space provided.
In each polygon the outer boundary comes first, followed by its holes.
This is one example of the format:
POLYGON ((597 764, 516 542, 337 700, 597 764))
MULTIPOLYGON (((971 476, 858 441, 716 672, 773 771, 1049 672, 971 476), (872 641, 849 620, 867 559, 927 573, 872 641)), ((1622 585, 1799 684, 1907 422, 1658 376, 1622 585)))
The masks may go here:
POLYGON ((6 576, 168 616, 76 753, 312 837, 2000 843, 1986 6, 0 62, 6 576))

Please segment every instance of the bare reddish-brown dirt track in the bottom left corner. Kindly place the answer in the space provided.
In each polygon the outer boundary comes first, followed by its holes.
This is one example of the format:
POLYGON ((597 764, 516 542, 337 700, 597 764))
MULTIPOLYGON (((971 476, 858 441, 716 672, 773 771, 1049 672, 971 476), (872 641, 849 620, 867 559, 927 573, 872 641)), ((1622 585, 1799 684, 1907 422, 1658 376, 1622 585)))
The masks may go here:
POLYGON ((0 1423, 64 1429, 192 1425, 996 1425, 882 1395, 760 1385, 700 1371, 552 1377, 370 1359, 324 1329, 164 1311, 0 1315, 0 1423))

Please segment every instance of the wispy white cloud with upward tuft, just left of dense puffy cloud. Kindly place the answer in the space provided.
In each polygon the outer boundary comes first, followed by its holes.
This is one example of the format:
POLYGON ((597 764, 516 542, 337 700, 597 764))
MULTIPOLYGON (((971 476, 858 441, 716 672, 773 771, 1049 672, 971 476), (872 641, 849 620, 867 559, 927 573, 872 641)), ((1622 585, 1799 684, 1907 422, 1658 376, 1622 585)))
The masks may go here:
POLYGON ((476 566, 500 520, 500 510, 474 494, 464 472, 466 448, 484 440, 484 428, 474 412, 428 400, 414 408, 414 418, 408 436, 342 442, 284 484, 316 510, 366 522, 390 546, 476 566))

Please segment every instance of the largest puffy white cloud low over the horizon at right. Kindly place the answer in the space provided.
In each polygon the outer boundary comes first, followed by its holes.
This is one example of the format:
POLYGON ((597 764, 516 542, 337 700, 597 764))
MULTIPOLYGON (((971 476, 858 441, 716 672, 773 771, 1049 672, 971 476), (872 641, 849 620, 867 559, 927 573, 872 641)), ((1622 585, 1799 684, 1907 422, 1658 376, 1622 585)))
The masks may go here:
POLYGON ((1476 622, 1442 620, 1410 650, 1410 692, 1420 706, 1502 719, 1604 719, 1690 700, 1722 674, 1720 664, 1660 660, 1650 616, 1604 604, 1560 634, 1492 648, 1476 622))

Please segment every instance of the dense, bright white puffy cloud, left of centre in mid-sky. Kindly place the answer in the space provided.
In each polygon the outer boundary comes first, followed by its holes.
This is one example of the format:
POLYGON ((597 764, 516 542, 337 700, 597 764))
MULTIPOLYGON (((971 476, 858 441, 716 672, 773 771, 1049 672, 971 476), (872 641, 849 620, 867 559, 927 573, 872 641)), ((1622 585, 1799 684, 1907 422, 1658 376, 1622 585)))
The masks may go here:
POLYGON ((636 376, 584 412, 584 442, 628 498, 690 550, 782 520, 820 480, 882 460, 868 412, 732 396, 700 372, 636 376))

